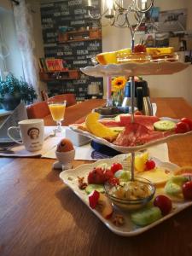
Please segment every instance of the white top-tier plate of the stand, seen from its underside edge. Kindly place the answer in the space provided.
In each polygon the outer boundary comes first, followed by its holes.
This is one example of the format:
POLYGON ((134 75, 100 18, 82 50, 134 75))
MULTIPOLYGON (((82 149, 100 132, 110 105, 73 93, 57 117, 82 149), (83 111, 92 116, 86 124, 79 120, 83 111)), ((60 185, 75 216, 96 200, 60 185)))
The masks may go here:
POLYGON ((81 72, 92 77, 163 75, 182 71, 189 63, 179 61, 158 61, 146 63, 125 63, 82 67, 81 72))

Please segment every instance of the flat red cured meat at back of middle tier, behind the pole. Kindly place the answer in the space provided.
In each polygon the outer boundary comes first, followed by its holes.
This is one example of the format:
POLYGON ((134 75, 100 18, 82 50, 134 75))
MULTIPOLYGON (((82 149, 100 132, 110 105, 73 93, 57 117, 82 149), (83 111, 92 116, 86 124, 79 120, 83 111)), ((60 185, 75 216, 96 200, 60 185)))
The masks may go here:
MULTIPOLYGON (((131 115, 120 115, 120 125, 126 126, 131 123, 131 115)), ((160 119, 156 116, 149 115, 135 115, 135 122, 137 124, 141 124, 146 126, 150 130, 154 130, 154 123, 159 121, 160 119)))

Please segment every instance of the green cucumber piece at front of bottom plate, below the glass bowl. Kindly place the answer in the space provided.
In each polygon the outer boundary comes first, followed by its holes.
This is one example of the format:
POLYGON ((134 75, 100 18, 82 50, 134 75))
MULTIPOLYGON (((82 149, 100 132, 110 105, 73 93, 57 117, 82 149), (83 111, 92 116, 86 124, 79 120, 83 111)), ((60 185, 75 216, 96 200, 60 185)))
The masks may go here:
POLYGON ((146 226, 162 218, 159 207, 150 207, 131 214, 131 220, 138 226, 146 226))

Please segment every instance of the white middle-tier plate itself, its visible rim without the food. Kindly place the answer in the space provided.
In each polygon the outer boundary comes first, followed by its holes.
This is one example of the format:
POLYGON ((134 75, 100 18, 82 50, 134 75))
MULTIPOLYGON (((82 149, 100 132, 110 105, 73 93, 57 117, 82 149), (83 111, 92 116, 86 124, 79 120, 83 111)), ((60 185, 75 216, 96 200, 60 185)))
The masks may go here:
MULTIPOLYGON (((165 120, 165 119, 166 120, 171 120, 175 123, 177 123, 179 121, 178 119, 171 119, 171 118, 168 118, 168 117, 160 118, 160 120, 165 120)), ((88 131, 82 131, 81 129, 78 128, 78 125, 69 125, 69 127, 73 131, 76 131, 81 135, 84 135, 86 137, 90 137, 90 139, 94 140, 96 143, 101 143, 101 144, 106 145, 110 148, 113 148, 113 149, 115 149, 115 150, 117 150, 121 153, 136 152, 136 151, 143 150, 143 149, 151 147, 151 146, 159 145, 161 143, 167 143, 167 142, 171 141, 172 139, 176 139, 178 137, 186 137, 186 136, 192 135, 192 131, 188 131, 188 132, 185 132, 185 133, 175 133, 175 134, 169 135, 167 137, 160 138, 158 140, 150 141, 150 142, 145 143, 143 145, 123 147, 123 146, 114 145, 113 143, 109 143, 107 140, 103 139, 102 137, 96 137, 95 135, 91 134, 88 131)))

